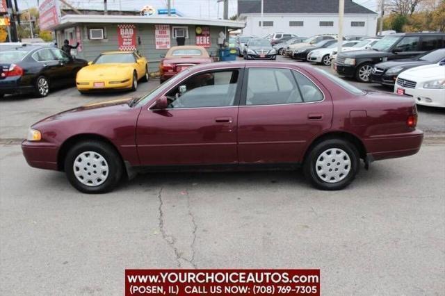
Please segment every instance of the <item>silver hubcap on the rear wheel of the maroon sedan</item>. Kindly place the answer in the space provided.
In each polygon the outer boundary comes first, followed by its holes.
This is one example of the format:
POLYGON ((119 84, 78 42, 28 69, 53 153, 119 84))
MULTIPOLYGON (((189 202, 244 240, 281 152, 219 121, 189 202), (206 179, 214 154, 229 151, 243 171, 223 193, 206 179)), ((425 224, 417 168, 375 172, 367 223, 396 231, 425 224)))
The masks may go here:
POLYGON ((349 155, 339 148, 327 149, 318 156, 315 170, 323 181, 337 183, 345 179, 350 172, 349 155))

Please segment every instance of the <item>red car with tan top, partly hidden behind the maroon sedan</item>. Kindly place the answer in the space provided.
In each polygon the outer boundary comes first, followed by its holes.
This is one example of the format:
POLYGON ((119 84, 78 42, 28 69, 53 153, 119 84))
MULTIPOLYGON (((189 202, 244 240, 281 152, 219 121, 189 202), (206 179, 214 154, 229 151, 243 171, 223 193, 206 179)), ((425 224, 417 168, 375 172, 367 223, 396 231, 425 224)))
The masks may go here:
POLYGON ((163 83, 188 67, 212 63, 212 61, 204 47, 196 45, 172 47, 159 63, 159 82, 163 83))

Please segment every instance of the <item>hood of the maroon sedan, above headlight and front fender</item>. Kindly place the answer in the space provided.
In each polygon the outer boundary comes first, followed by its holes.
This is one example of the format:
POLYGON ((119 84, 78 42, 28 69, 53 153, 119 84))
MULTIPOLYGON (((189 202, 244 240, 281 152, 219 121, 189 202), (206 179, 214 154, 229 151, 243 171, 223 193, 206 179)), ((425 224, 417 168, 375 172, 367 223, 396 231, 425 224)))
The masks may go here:
POLYGON ((114 99, 111 101, 102 101, 93 104, 86 104, 44 118, 44 120, 40 120, 40 122, 37 122, 34 125, 42 124, 44 122, 53 122, 56 120, 81 120, 82 118, 90 116, 97 117, 101 115, 116 113, 119 110, 131 108, 129 106, 129 102, 132 99, 133 98, 128 97, 124 99, 114 99))

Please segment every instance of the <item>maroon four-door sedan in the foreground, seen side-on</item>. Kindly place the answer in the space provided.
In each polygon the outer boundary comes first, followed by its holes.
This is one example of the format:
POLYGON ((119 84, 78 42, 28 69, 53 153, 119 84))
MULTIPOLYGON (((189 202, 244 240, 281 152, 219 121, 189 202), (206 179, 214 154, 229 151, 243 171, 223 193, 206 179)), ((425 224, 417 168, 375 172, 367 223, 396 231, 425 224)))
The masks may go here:
POLYGON ((314 186, 348 186, 360 159, 419 151, 414 99, 366 92, 309 65, 211 63, 145 97, 67 110, 31 127, 33 167, 107 192, 140 170, 257 170, 302 165, 314 186))

